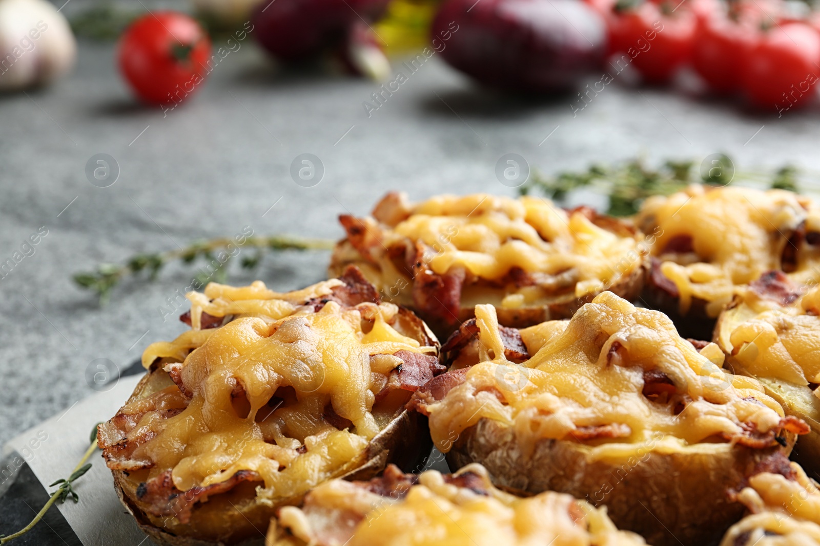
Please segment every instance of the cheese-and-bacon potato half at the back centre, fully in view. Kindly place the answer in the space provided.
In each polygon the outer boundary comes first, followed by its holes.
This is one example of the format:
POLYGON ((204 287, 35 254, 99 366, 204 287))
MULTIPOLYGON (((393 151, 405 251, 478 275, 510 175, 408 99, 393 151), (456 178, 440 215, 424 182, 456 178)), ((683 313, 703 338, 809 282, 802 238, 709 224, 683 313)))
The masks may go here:
POLYGON ((640 294, 648 248, 626 220, 539 197, 437 196, 411 205, 389 193, 368 218, 343 214, 347 237, 330 276, 357 265, 385 300, 448 336, 479 304, 526 327, 569 318, 604 290, 640 294))

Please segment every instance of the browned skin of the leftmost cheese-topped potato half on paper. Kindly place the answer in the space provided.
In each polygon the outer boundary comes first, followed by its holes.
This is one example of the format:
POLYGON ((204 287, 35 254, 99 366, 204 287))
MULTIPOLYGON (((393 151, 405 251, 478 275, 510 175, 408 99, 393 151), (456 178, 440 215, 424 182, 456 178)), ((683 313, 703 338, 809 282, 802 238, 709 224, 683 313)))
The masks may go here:
MULTIPOLYGON (((149 395, 157 388, 166 386, 167 382, 167 374, 162 369, 149 372, 139 381, 128 402, 149 395)), ((396 464, 404 472, 413 472, 430 453, 431 447, 427 418, 402 410, 371 440, 361 458, 351 461, 339 476, 334 477, 369 480, 389 463, 396 464)), ((139 481, 133 475, 128 476, 118 470, 112 470, 112 474, 117 496, 139 527, 158 544, 171 546, 263 544, 263 534, 276 510, 285 505, 298 504, 303 496, 300 494, 262 502, 255 498, 257 484, 244 482, 227 493, 213 495, 207 502, 196 504, 189 523, 182 525, 173 518, 164 519, 146 512, 137 496, 139 481)))

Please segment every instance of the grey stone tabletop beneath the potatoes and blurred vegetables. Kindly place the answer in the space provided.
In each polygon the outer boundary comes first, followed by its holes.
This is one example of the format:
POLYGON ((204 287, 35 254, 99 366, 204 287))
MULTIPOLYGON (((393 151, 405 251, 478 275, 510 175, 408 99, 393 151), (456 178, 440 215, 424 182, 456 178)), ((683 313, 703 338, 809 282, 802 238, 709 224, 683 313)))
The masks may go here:
MULTIPOLYGON (((167 318, 162 309, 188 286, 191 269, 125 282, 101 308, 71 282, 100 262, 245 227, 339 237, 337 214, 367 213, 393 189, 414 199, 512 195, 494 174, 508 152, 546 172, 715 151, 744 167, 820 168, 817 108, 778 119, 613 83, 573 114, 573 97, 527 102, 486 93, 435 56, 368 117, 362 102, 376 88, 277 73, 248 40, 198 96, 166 114, 132 100, 108 45, 81 44, 73 73, 51 88, 0 97, 0 262, 48 232, 0 278, 0 444, 54 413, 71 417, 72 404, 93 394, 86 373, 95 359, 125 368, 148 343, 185 329, 179 313, 167 318), (86 162, 100 153, 120 168, 111 187, 86 178, 86 162), (303 153, 324 165, 315 187, 290 177, 303 153)), ((327 258, 268 257, 254 273, 232 269, 230 280, 302 287, 323 278, 327 258)))

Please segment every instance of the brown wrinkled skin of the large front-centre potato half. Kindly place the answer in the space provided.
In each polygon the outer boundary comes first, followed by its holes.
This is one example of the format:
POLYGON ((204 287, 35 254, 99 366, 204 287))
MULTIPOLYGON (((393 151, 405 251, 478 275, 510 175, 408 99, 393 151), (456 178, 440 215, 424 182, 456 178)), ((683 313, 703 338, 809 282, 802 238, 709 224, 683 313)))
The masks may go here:
POLYGON ((714 449, 647 449, 613 462, 590 461, 583 444, 545 439, 526 458, 512 427, 483 418, 462 431, 447 461, 451 468, 481 463, 502 487, 529 493, 554 490, 603 503, 619 529, 643 535, 647 544, 717 544, 745 511, 730 501, 727 491, 781 448, 704 445, 714 449))

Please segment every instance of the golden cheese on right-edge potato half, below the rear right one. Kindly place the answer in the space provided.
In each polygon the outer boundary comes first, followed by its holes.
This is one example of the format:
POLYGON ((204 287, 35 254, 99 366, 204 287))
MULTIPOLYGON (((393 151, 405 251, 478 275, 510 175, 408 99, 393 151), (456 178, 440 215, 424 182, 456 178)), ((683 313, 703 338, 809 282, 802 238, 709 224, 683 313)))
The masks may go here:
MULTIPOLYGON (((723 315, 718 344, 733 365, 754 377, 796 386, 820 383, 820 288, 791 305, 779 305, 751 289, 740 291, 723 315)), ((820 390, 814 394, 820 397, 820 390)))

